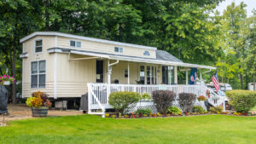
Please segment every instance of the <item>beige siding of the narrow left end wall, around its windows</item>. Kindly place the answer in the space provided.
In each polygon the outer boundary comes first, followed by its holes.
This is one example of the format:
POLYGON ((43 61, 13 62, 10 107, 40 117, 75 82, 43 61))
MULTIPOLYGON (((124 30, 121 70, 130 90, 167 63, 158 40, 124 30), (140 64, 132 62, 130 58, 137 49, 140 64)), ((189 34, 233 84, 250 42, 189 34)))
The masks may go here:
POLYGON ((32 92, 44 91, 49 96, 54 95, 54 55, 49 55, 47 49, 54 47, 55 37, 33 37, 23 43, 23 53, 28 53, 28 58, 23 59, 22 92, 23 97, 29 97, 32 92), (35 54, 35 40, 43 40, 43 52, 35 54), (46 61, 46 88, 31 88, 31 62, 36 60, 46 61))

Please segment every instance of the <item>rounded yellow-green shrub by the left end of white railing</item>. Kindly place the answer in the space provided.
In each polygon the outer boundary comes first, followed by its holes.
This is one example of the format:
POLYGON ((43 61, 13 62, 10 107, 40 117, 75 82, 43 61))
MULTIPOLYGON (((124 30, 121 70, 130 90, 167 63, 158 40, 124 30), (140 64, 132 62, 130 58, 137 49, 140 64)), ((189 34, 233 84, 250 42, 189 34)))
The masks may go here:
POLYGON ((141 95, 137 92, 118 91, 109 95, 108 103, 120 113, 124 113, 128 107, 135 107, 141 95))

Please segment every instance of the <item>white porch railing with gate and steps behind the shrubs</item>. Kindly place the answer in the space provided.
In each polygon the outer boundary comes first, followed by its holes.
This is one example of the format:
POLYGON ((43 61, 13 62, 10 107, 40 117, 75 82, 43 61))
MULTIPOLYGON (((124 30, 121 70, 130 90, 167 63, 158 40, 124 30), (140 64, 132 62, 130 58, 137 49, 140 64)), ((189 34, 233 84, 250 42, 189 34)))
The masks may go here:
MULTIPOLYGON (((223 99, 220 95, 215 94, 211 89, 208 89, 205 85, 139 85, 139 84, 87 84, 88 86, 88 113, 90 114, 105 114, 105 110, 112 108, 108 104, 108 96, 110 93, 115 91, 133 91, 138 92, 139 94, 148 93, 152 94, 154 90, 159 89, 168 89, 172 90, 176 95, 179 93, 193 93, 197 96, 206 95, 206 91, 209 90, 212 96, 212 99, 208 101, 212 106, 218 106, 223 99), (217 101, 217 102, 216 102, 217 101), (101 111, 98 111, 101 109, 101 111), (95 111, 95 112, 93 112, 95 111)), ((208 98, 208 97, 207 97, 208 98)), ((177 101, 176 101, 177 102, 177 101)), ((202 102, 198 102, 203 105, 202 102)), ((149 105, 154 105, 154 102, 139 102, 137 107, 147 107, 149 105)))

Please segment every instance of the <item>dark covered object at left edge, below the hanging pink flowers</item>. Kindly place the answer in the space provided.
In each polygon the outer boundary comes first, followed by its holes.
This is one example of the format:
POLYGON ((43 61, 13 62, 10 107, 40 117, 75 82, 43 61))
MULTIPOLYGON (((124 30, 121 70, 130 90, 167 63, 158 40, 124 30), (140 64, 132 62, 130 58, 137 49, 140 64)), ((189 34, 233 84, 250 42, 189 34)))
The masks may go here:
POLYGON ((8 90, 3 85, 0 85, 0 114, 8 113, 7 104, 8 90))

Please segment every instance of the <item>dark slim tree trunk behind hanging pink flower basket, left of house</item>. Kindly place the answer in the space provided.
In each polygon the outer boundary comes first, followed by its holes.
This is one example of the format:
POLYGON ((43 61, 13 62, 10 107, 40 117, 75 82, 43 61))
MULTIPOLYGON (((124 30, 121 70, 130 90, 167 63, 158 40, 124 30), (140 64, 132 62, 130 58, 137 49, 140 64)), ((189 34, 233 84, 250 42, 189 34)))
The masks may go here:
MULTIPOLYGON (((16 35, 14 36, 14 49, 13 49, 13 60, 12 60, 12 76, 16 78, 16 35)), ((16 103, 16 82, 12 84, 12 102, 16 103)))

